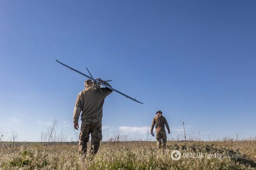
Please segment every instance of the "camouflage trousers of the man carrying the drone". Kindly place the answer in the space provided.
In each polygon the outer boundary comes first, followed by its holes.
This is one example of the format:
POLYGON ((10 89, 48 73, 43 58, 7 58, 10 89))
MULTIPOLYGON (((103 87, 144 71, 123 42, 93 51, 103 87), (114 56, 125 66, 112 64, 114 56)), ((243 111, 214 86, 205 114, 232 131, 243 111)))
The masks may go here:
POLYGON ((87 152, 87 142, 89 142, 89 135, 91 134, 91 150, 90 154, 96 154, 99 150, 99 143, 101 141, 101 118, 87 118, 82 120, 81 132, 79 134, 78 149, 79 154, 85 155, 87 152))

